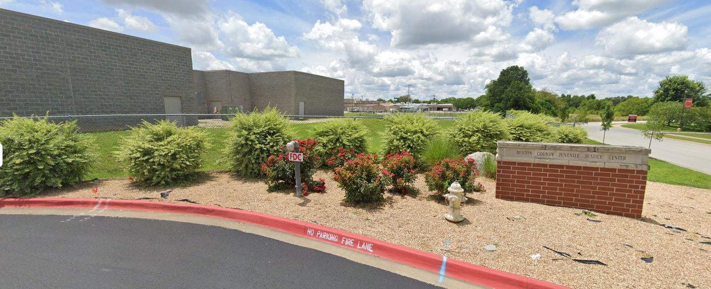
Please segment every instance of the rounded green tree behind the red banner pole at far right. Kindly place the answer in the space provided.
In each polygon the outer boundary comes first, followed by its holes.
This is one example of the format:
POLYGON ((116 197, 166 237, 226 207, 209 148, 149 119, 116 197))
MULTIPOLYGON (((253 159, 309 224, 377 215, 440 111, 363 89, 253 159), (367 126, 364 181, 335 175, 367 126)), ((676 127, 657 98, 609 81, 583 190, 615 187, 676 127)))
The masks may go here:
POLYGON ((667 76, 654 89, 654 102, 683 102, 685 98, 694 99, 697 107, 711 104, 704 82, 690 80, 687 75, 667 76))

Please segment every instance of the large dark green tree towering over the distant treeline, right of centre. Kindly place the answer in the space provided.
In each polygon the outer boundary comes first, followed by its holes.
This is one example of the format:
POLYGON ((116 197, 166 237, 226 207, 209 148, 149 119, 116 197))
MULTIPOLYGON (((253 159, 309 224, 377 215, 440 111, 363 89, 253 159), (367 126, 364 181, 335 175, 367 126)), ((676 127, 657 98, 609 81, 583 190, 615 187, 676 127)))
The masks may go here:
POLYGON ((528 71, 520 66, 501 70, 496 80, 486 84, 486 96, 494 111, 520 109, 538 112, 528 71))

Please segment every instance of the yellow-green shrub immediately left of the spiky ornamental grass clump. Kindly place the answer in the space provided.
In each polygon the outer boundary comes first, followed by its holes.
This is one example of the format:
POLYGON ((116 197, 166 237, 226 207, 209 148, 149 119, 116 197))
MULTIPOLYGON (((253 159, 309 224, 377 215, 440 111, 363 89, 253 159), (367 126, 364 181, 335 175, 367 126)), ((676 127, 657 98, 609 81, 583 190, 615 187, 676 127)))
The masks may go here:
POLYGON ((385 155, 408 151, 416 160, 427 142, 436 136, 439 126, 424 114, 408 113, 385 116, 385 155))

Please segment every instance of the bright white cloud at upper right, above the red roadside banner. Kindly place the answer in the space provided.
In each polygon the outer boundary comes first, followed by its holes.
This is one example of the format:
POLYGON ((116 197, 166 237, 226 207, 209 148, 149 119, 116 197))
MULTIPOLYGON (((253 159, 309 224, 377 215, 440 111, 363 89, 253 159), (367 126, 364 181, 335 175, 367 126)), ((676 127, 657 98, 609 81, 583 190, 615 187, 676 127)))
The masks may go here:
POLYGON ((687 34, 688 28, 680 23, 652 23, 630 17, 604 28, 595 43, 610 55, 624 58, 683 50, 688 43, 687 34))

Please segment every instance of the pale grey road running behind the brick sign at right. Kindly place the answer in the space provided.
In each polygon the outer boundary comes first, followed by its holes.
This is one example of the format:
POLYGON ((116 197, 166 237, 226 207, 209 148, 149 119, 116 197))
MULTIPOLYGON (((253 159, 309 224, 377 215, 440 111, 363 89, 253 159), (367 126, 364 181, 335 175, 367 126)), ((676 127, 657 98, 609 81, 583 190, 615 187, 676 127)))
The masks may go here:
MULTIPOLYGON (((625 123, 616 121, 615 124, 625 123)), ((599 122, 584 124, 588 137, 602 141, 602 131, 599 122)), ((605 143, 618 146, 649 146, 649 138, 644 138, 637 129, 624 129, 613 126, 605 136, 605 143)), ((701 143, 677 141, 664 138, 664 141, 652 141, 651 157, 675 163, 686 168, 698 170, 711 175, 711 146, 701 143)))

